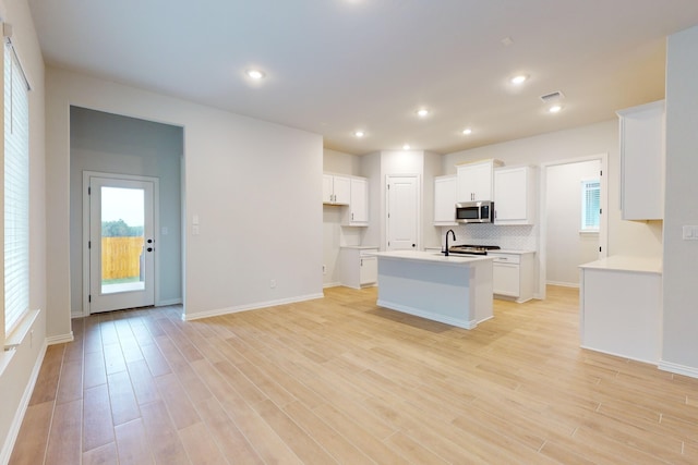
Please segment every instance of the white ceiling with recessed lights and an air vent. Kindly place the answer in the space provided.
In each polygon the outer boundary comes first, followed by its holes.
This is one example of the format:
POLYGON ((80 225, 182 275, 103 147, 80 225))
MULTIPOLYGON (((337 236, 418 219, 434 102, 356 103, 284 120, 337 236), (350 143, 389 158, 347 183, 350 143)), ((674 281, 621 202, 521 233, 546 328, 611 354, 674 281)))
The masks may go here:
POLYGON ((447 154, 613 119, 664 97, 665 38, 698 24, 696 0, 29 5, 49 65, 317 133, 356 155, 404 144, 447 154), (529 78, 514 86, 516 74, 529 78), (540 96, 557 90, 564 108, 551 114, 540 96))

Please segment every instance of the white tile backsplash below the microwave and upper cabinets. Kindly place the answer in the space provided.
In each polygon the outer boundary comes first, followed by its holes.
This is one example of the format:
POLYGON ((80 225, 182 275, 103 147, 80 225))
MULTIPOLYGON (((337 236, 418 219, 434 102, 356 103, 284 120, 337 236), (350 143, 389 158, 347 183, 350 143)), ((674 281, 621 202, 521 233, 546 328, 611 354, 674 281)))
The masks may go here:
POLYGON ((446 231, 456 233, 456 244, 498 245, 505 249, 538 250, 538 225, 459 224, 442 227, 442 245, 446 231))

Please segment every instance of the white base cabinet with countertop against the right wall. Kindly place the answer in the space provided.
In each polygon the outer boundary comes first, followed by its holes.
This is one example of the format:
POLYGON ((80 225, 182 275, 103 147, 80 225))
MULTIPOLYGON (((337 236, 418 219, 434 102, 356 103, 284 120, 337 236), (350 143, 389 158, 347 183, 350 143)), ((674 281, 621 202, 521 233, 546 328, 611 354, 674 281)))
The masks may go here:
POLYGON ((661 259, 612 256, 580 269, 581 346, 659 363, 661 259))

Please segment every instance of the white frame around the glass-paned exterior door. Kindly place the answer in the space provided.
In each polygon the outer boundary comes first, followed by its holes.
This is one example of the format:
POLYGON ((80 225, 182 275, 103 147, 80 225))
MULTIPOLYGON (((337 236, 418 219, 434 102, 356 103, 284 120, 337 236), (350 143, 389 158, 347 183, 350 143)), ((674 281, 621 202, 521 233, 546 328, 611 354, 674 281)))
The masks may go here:
MULTIPOLYGON (((160 180, 159 178, 153 176, 140 176, 133 174, 118 174, 118 173, 105 173, 100 171, 83 171, 83 241, 82 245, 83 250, 87 250, 87 242, 89 242, 89 195, 87 194, 87 189, 89 187, 89 179, 91 178, 105 178, 111 180, 125 180, 125 181, 143 181, 143 182, 152 182, 153 183, 153 236, 155 238, 155 243, 159 243, 159 217, 160 217, 160 180)), ((153 293, 154 293, 154 303, 155 306, 160 302, 160 290, 158 285, 158 277, 159 268, 160 268, 160 254, 158 253, 159 247, 155 247, 153 253, 155 256, 153 257, 153 293)), ((89 311, 89 252, 83 253, 83 317, 87 317, 91 315, 89 311)))

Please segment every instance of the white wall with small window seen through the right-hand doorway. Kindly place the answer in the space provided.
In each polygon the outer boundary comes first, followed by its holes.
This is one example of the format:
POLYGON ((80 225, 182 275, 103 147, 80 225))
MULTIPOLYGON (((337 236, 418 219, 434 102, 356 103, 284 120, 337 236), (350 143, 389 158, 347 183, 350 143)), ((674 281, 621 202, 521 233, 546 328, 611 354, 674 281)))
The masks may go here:
POLYGON ((547 167, 546 267, 549 284, 579 285, 579 265, 599 258, 599 235, 580 234, 581 180, 599 176, 598 160, 547 167))

